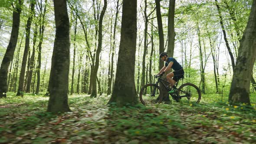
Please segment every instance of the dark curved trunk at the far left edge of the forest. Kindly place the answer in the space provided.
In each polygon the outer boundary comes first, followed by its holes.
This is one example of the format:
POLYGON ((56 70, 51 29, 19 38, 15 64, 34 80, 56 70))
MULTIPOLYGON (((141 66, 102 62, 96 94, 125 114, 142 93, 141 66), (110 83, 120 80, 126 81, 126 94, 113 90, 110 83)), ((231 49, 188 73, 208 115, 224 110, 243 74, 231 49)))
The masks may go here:
POLYGON ((0 67, 0 98, 6 97, 7 93, 7 75, 10 62, 13 60, 14 51, 16 49, 16 44, 19 36, 20 28, 20 13, 23 1, 19 0, 18 5, 15 10, 13 10, 13 25, 12 32, 10 36, 10 42, 7 46, 6 52, 3 56, 3 61, 0 67))

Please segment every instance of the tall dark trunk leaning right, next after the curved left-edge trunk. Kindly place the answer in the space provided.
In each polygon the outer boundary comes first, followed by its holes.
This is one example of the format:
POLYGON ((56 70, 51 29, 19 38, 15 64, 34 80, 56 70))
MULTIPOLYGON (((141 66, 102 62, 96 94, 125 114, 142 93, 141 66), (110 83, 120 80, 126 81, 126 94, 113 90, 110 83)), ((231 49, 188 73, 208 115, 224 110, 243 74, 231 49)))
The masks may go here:
POLYGON ((20 70, 20 80, 19 80, 17 96, 23 95, 24 77, 25 77, 25 72, 26 72, 26 62, 27 62, 28 51, 30 49, 30 27, 31 27, 31 23, 33 20, 34 13, 35 13, 35 2, 31 1, 30 16, 26 23, 26 42, 25 42, 25 49, 24 49, 24 53, 23 53, 23 60, 22 60, 22 65, 21 65, 21 70, 20 70))

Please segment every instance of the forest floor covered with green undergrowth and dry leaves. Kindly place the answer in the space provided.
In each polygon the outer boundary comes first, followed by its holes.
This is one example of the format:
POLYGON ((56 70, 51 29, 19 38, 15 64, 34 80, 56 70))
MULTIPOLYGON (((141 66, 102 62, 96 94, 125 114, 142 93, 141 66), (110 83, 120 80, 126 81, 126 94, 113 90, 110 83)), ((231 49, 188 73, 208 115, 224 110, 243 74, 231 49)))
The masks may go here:
POLYGON ((215 144, 256 143, 256 95, 252 107, 203 95, 200 104, 117 108, 110 96, 69 96, 72 112, 46 112, 48 97, 9 94, 0 99, 2 144, 215 144))

